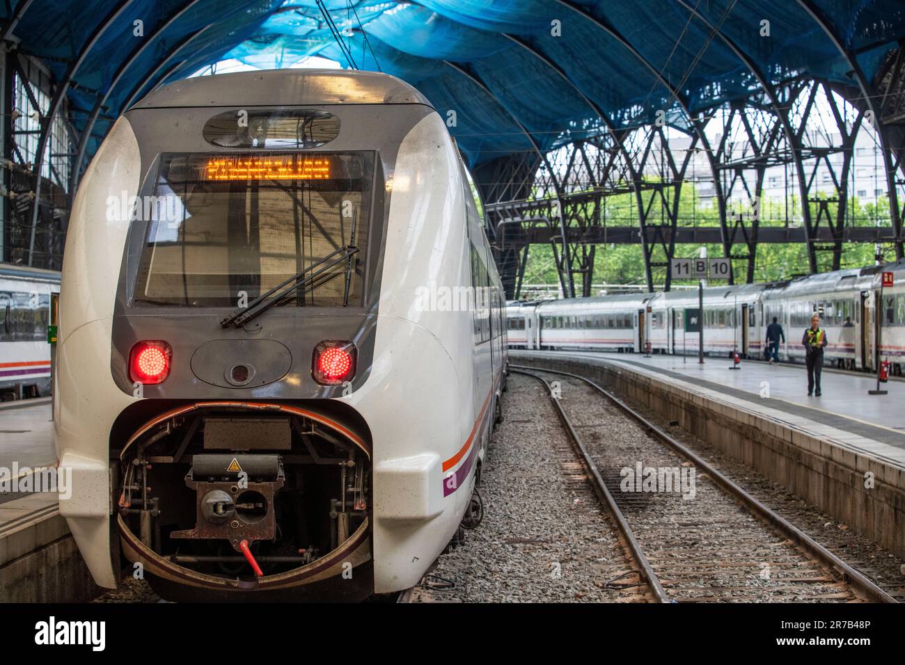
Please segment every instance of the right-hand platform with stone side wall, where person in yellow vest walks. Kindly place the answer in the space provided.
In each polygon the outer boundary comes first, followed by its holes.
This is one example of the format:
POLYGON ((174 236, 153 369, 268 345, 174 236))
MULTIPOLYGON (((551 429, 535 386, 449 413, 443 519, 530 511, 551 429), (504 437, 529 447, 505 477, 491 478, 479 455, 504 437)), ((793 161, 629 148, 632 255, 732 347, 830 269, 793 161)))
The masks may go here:
POLYGON ((743 461, 905 556, 905 382, 825 372, 807 396, 804 366, 728 357, 510 349, 510 365, 585 376, 743 461))

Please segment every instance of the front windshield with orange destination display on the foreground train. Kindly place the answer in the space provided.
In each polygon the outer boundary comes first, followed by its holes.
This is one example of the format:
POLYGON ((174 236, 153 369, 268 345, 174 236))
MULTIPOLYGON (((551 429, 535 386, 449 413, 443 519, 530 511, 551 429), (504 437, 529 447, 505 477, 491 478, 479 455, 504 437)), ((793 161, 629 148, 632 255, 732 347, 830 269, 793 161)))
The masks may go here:
POLYGON ((135 210, 148 233, 134 299, 242 307, 355 247, 280 305, 363 305, 373 179, 373 153, 161 156, 135 210))

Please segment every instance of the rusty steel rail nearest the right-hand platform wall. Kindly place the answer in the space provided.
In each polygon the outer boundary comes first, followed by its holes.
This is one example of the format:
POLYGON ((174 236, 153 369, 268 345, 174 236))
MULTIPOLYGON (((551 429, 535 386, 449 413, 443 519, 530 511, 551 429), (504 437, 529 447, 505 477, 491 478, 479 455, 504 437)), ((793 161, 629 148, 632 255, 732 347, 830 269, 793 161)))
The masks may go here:
MULTIPOLYGON (((862 594, 864 597, 875 603, 898 603, 898 601, 890 594, 887 594, 865 575, 855 570, 851 565, 846 564, 841 558, 839 558, 839 556, 834 555, 833 552, 815 541, 814 538, 805 534, 805 532, 800 528, 795 527, 795 525, 789 522, 786 518, 778 515, 771 508, 767 508, 767 506, 765 506, 759 500, 748 494, 747 490, 742 489, 742 487, 736 482, 729 480, 727 476, 723 475, 719 470, 715 469, 712 465, 710 465, 709 462, 701 459, 699 455, 689 450, 682 443, 673 439, 672 436, 670 436, 666 432, 663 432, 659 427, 647 420, 641 413, 636 412, 631 406, 625 404, 624 401, 619 397, 612 394, 605 388, 602 388, 600 385, 595 384, 594 381, 591 381, 584 376, 571 374, 569 372, 563 372, 557 369, 540 369, 538 367, 518 365, 510 365, 510 369, 516 371, 529 369, 535 372, 548 372, 549 374, 568 376, 569 378, 584 381, 587 385, 593 387, 598 393, 603 394, 609 401, 615 404, 621 411, 628 414, 637 423, 642 424, 647 432, 651 434, 655 439, 670 446, 673 450, 677 451, 688 461, 691 461, 698 468, 707 473, 707 475, 710 477, 710 480, 713 480, 713 482, 716 483, 721 489, 725 489, 727 492, 729 492, 729 494, 733 495, 737 499, 740 499, 742 505, 745 508, 748 508, 752 515, 760 518, 762 521, 766 522, 767 525, 777 528, 785 536, 791 538, 797 546, 805 550, 807 554, 816 557, 821 562, 823 562, 824 565, 831 567, 838 575, 843 578, 843 581, 846 581, 852 585, 853 590, 860 592, 860 594, 862 594)), ((519 373, 527 374, 524 371, 521 371, 519 373)))

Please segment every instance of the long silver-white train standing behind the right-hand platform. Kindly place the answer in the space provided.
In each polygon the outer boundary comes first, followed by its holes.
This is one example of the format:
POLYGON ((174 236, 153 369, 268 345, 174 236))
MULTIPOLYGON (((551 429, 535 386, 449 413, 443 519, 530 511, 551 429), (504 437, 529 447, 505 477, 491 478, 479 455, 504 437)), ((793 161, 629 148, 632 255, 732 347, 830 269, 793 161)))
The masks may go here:
MULTIPOLYGON (((697 354, 699 335, 685 332, 685 318, 698 307, 697 290, 510 302, 508 339, 512 348, 632 353, 650 344, 653 353, 697 354)), ((780 359, 804 362, 801 337, 816 313, 829 340, 827 364, 875 370, 879 330, 881 359, 890 360, 896 375, 905 366, 905 261, 710 287, 704 289, 703 308, 706 354, 765 357, 767 325, 776 317, 786 334, 780 359), (883 272, 891 272, 893 282, 881 289, 883 272)))

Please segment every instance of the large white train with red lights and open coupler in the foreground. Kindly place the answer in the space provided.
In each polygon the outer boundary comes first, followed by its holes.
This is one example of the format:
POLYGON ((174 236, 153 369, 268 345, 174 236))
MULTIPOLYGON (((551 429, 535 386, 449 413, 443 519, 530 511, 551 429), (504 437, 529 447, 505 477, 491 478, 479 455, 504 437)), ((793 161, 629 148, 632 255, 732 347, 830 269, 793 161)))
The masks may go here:
POLYGON ((60 512, 100 586, 132 573, 121 553, 176 600, 393 592, 475 508, 502 290, 462 159, 404 82, 151 93, 81 183, 62 285, 60 512))

